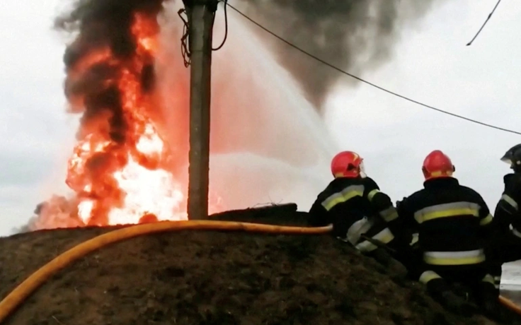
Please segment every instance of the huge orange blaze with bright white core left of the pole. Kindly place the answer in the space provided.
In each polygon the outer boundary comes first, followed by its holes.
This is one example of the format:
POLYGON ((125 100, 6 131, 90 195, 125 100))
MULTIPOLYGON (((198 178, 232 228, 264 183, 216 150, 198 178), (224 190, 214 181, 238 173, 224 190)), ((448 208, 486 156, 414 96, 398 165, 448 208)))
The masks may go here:
MULTIPOLYGON (((67 99, 71 112, 84 113, 67 170, 75 195, 40 205, 33 228, 187 218, 185 191, 171 172, 172 143, 161 135, 157 114, 158 35, 156 15, 138 11, 132 13, 130 55, 108 45, 81 52, 86 42, 81 34, 69 47, 81 56, 67 66, 67 99)), ((215 198, 210 213, 222 209, 215 198)))

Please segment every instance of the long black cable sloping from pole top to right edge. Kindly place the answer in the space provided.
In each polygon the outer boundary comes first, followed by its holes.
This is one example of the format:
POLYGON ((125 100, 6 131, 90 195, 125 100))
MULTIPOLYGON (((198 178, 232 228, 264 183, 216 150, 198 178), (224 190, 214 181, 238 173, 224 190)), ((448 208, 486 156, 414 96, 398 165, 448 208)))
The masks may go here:
POLYGON ((418 100, 413 100, 411 98, 408 98, 404 95, 400 95, 399 93, 394 93, 393 91, 391 90, 387 90, 385 88, 382 88, 380 87, 379 85, 376 85, 374 83, 371 83, 370 81, 365 81, 364 79, 360 78, 360 77, 357 77, 351 73, 348 73, 347 71, 343 71, 342 69, 340 68, 337 68, 336 66, 333 66, 333 64, 329 64, 328 62, 324 61, 323 59, 319 59, 319 57, 315 57, 313 54, 310 54, 309 52, 306 52, 304 51, 304 49, 301 49, 299 47, 297 47, 297 45, 293 45, 291 42, 285 40, 284 38, 280 37, 279 35, 275 34, 275 32, 272 32, 271 30, 268 30, 268 28, 265 28, 263 25, 260 25, 260 23, 257 23, 255 20, 249 18, 248 16, 246 16, 246 14, 242 13, 241 11, 239 11, 239 9, 236 9, 234 6, 231 6, 231 4, 227 4, 230 8, 232 8, 234 11, 236 11, 237 13, 239 13, 239 15, 243 16, 244 18, 246 18, 247 20, 250 20, 251 23, 257 25, 259 28, 261 28, 262 30, 264 30, 265 32, 268 32, 270 35, 273 35, 274 37, 278 38, 280 41, 282 42, 285 42, 287 45, 289 45, 290 47, 293 47, 294 49, 297 49, 299 52, 302 52, 304 54, 306 54, 308 57, 311 57, 313 59, 315 59, 316 61, 319 61, 321 62, 321 64, 324 64, 326 66, 329 66, 331 69, 334 69, 340 73, 343 73, 347 76, 350 76, 351 78, 355 78, 357 81, 361 81, 362 83, 366 83, 367 85, 371 85, 372 87, 374 88, 377 88, 379 90, 382 90, 386 93, 389 93, 391 95, 394 95, 396 97, 399 97, 403 100, 407 100, 408 102, 413 102, 415 103, 416 105, 420 105, 420 106, 423 106, 423 107, 427 107, 429 108, 430 110, 435 110, 437 112, 440 112, 440 113, 444 113, 444 114, 447 114, 447 115, 451 115, 453 117, 458 117, 459 119, 465 119, 466 121, 469 121, 469 122, 473 122, 473 123, 476 123, 476 124, 481 124, 483 126, 488 126, 492 129, 498 129, 500 131, 505 131, 505 132, 510 132, 510 133, 513 133, 513 134, 519 134, 521 135, 521 132, 518 132, 518 131, 513 131, 513 130, 510 130, 510 129, 505 129, 505 128, 502 128, 500 126, 495 126, 495 125, 492 125, 492 124, 487 124, 487 123, 484 123, 484 122, 479 122, 479 121, 476 121, 475 119, 469 119, 469 117, 464 117, 464 116, 461 116, 461 115, 458 115, 458 114, 454 114, 454 113, 451 113, 451 112, 447 112, 447 111, 444 111, 444 110, 440 110, 439 108, 436 108, 436 107, 433 107, 433 106, 430 106, 430 105, 427 105, 427 104, 424 104, 423 102, 418 102, 418 100))

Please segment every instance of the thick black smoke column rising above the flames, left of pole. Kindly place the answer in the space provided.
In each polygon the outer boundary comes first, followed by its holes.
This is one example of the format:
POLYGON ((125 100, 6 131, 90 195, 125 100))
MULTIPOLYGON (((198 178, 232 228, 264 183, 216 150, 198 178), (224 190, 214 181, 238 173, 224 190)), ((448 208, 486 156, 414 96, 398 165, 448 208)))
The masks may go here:
MULTIPOLYGON (((80 0, 71 11, 55 20, 55 28, 68 33, 76 33, 76 39, 66 49, 64 64, 67 71, 65 95, 69 101, 74 97, 84 98, 82 124, 110 112, 110 137, 116 143, 125 141, 125 119, 123 118, 120 90, 113 81, 121 71, 120 64, 134 56, 137 44, 132 37, 131 25, 134 13, 144 13, 156 17, 162 10, 162 0, 80 0), (76 76, 79 64, 104 48, 112 52, 106 59, 76 76), (114 60, 116 59, 116 60, 114 60)), ((142 85, 149 90, 153 83, 154 58, 149 58, 143 71, 135 71, 147 80, 142 85)), ((78 108, 76 107, 76 110, 78 108)), ((74 108, 73 108, 74 110, 74 108)), ((81 132, 79 133, 81 138, 81 132)))

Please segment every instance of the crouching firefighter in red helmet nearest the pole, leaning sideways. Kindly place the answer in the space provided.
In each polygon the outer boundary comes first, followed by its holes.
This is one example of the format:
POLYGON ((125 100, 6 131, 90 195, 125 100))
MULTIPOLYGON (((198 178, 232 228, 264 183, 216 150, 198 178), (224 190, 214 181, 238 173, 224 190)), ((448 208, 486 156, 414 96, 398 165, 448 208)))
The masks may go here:
POLYGON ((352 151, 338 153, 331 161, 331 172, 334 179, 311 206, 309 224, 333 224, 338 239, 374 257, 391 272, 405 273, 386 249, 398 245, 389 229, 396 227, 398 213, 389 196, 365 175, 363 159, 352 151))

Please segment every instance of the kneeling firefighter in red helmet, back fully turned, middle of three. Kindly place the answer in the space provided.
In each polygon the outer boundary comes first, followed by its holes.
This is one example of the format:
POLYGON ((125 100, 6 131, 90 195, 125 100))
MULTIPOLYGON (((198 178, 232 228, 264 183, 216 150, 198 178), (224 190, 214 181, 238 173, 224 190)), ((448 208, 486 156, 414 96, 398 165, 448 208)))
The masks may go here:
POLYGON ((454 170, 450 158, 434 150, 423 162, 424 188, 399 204, 400 217, 417 225, 422 257, 413 273, 447 309, 466 315, 475 312, 466 298, 453 291, 454 284, 462 284, 474 294, 483 314, 497 318, 499 293, 483 245, 493 217, 481 195, 452 177, 454 170))

